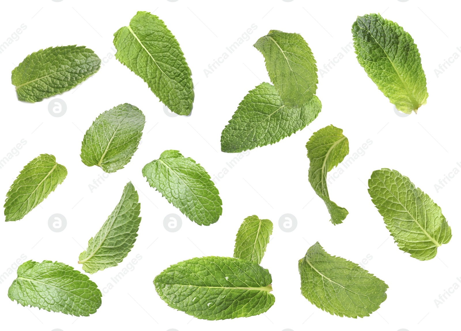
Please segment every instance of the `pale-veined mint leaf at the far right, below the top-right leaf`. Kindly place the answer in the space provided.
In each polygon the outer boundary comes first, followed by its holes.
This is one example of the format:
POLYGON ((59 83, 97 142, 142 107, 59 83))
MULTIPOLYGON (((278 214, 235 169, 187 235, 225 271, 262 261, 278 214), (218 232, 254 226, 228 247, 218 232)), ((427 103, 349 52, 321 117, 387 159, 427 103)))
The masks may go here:
POLYGON ((442 209, 396 170, 375 170, 368 180, 372 202, 399 249, 415 259, 431 260, 451 239, 442 209))

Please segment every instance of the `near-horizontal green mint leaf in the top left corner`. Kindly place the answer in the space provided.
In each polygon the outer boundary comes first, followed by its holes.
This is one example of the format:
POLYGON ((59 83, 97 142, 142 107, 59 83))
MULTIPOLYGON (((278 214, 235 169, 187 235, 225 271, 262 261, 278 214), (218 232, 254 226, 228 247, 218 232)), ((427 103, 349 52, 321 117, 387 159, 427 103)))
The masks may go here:
POLYGON ((41 49, 24 58, 11 73, 20 101, 37 102, 63 93, 95 74, 101 60, 85 46, 41 49))

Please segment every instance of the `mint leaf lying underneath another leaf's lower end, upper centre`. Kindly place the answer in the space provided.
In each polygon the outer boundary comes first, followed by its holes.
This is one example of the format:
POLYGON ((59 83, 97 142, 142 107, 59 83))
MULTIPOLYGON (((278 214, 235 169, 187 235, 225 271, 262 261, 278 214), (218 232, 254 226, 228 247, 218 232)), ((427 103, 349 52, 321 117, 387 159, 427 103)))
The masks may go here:
POLYGON ((236 153, 275 144, 305 128, 321 109, 315 95, 302 107, 288 107, 273 85, 262 83, 248 92, 224 128, 221 151, 236 153))

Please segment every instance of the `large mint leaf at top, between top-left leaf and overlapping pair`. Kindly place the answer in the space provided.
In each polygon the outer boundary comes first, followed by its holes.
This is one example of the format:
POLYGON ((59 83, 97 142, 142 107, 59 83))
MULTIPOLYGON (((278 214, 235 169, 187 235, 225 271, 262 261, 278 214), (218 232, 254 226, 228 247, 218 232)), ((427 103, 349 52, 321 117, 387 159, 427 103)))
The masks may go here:
POLYGON ((163 21, 137 12, 130 25, 114 33, 115 57, 140 76, 171 111, 189 115, 194 86, 184 53, 163 21))

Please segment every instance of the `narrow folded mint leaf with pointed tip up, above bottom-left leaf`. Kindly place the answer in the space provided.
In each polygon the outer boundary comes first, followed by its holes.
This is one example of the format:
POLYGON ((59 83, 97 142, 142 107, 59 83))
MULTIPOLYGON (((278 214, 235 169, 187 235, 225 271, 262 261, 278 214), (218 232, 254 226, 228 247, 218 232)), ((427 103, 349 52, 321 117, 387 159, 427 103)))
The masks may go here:
POLYGON ((78 257, 87 273, 115 267, 128 255, 135 244, 141 217, 138 192, 131 182, 126 184, 122 197, 112 214, 95 237, 89 239, 88 248, 78 257))

